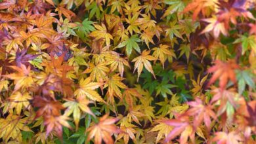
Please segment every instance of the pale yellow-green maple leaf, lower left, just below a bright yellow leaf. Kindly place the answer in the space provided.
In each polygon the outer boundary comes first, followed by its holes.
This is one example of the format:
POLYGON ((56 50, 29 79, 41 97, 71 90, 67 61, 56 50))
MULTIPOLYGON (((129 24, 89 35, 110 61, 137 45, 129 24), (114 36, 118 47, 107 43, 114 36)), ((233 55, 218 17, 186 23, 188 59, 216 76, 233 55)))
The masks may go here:
POLYGON ((89 101, 88 99, 79 97, 76 101, 74 99, 67 99, 67 102, 63 104, 63 107, 68 107, 64 113, 65 116, 68 117, 73 113, 76 130, 79 126, 78 124, 81 117, 81 111, 89 113, 90 115, 93 115, 95 117, 91 109, 89 109, 88 107, 89 103, 91 103, 91 101, 89 101))

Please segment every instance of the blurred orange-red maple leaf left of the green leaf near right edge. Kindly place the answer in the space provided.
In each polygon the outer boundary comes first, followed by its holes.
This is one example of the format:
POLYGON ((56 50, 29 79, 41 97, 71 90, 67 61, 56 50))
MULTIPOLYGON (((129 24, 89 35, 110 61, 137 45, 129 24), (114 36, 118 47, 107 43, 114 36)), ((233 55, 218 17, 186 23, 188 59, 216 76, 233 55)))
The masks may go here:
POLYGON ((213 84, 213 82, 219 78, 219 86, 221 90, 224 90, 226 84, 228 83, 228 79, 234 83, 236 82, 236 69, 238 69, 238 65, 233 60, 229 60, 228 62, 216 60, 215 65, 210 67, 207 71, 208 73, 213 73, 207 85, 209 86, 213 84))

